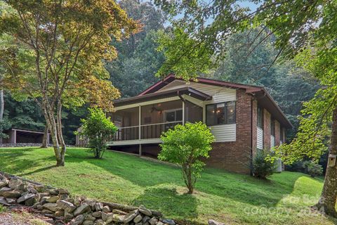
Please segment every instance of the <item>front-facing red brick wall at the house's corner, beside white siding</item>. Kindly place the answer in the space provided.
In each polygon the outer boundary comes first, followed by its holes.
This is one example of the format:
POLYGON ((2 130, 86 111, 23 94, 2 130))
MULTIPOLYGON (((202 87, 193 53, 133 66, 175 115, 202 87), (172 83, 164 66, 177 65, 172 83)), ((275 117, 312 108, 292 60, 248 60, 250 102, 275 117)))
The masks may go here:
MULTIPOLYGON (((213 150, 209 153, 210 157, 206 160, 206 165, 242 174, 251 172, 249 169, 251 135, 256 136, 256 123, 254 123, 253 134, 251 132, 251 103, 252 96, 245 91, 237 90, 237 141, 213 143, 213 150)), ((256 103, 253 102, 253 105, 256 103)), ((256 114, 256 110, 253 112, 256 114)))

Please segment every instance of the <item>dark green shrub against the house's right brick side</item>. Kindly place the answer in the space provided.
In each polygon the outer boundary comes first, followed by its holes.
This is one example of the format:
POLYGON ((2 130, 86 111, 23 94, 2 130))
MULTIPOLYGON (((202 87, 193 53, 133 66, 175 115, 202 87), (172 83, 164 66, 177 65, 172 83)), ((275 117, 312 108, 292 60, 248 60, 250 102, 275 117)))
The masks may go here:
POLYGON ((256 151, 256 155, 253 157, 253 176, 259 179, 266 179, 267 176, 273 174, 276 169, 275 160, 266 160, 270 158, 272 152, 270 150, 256 151))

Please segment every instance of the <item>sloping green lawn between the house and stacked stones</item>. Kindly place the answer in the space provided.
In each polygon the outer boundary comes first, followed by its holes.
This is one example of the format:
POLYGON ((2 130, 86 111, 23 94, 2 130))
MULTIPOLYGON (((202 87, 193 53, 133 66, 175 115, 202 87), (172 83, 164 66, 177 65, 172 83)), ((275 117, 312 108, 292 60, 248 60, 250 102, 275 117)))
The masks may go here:
POLYGON ((274 174, 268 181, 207 168, 193 195, 185 194, 178 167, 133 155, 107 152, 95 160, 84 148, 68 148, 65 167, 54 167, 49 148, 1 148, 0 170, 75 195, 128 205, 145 205, 166 217, 206 224, 334 224, 310 214, 322 191, 322 179, 296 172, 274 174), (277 213, 275 210, 278 210, 277 213))

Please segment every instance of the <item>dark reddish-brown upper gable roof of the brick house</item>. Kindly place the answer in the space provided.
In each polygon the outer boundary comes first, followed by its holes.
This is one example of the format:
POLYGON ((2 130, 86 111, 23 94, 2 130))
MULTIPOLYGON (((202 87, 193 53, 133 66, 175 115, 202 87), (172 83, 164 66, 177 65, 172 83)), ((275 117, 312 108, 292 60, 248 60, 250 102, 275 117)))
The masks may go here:
MULTIPOLYGON (((145 91, 142 91, 138 96, 147 96, 149 94, 154 94, 159 89, 162 89, 167 84, 170 84, 174 80, 178 78, 175 77, 175 75, 171 74, 161 81, 157 82, 156 84, 153 84, 149 88, 147 88, 145 91)), ((178 79, 181 80, 181 79, 178 79)), ((190 82, 194 82, 191 80, 190 82)), ((208 79, 203 77, 197 77, 197 82, 200 84, 209 84, 213 86, 223 86, 230 89, 243 89, 246 91, 247 94, 251 94, 256 97, 256 100, 258 101, 258 105, 268 110, 269 113, 271 113, 272 117, 274 117, 277 121, 279 121, 283 127, 286 128, 292 128, 293 125, 288 120, 286 115, 282 112, 281 108, 279 108, 279 105, 275 102, 275 100, 270 96, 270 94, 267 92, 267 90, 263 86, 255 86, 255 85, 247 85, 247 84, 237 84, 232 82, 223 82, 216 79, 208 79)))

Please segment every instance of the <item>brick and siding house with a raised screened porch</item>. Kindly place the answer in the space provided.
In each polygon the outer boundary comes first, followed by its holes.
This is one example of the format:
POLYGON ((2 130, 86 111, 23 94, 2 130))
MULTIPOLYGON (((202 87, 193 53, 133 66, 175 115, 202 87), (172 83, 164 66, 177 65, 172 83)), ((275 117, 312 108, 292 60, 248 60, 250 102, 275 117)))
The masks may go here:
POLYGON ((261 86, 169 75, 138 96, 114 101, 110 116, 119 127, 110 148, 156 157, 160 135, 176 124, 202 121, 216 137, 206 165, 249 174, 256 149, 286 141, 292 127, 261 86))

